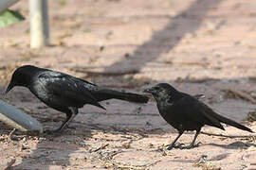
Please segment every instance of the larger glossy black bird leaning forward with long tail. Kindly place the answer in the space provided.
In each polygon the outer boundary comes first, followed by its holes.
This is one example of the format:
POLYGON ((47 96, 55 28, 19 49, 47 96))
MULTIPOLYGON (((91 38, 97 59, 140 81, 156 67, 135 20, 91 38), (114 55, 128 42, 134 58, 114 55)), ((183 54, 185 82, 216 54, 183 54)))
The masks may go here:
POLYGON ((99 103, 102 100, 116 98, 136 103, 148 101, 147 96, 106 89, 78 77, 32 65, 24 65, 14 71, 6 93, 15 86, 27 87, 47 106, 66 114, 64 123, 56 132, 67 127, 78 114, 78 109, 85 104, 105 110, 99 103))

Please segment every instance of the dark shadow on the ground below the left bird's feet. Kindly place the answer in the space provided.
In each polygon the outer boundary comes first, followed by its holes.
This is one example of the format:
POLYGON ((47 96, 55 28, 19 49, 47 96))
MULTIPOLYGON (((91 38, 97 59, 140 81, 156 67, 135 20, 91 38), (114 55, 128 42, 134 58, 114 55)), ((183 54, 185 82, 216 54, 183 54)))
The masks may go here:
MULTIPOLYGON (((86 149, 82 149, 82 147, 88 147, 84 139, 92 138, 92 136, 91 130, 88 129, 82 129, 80 132, 66 129, 61 133, 43 133, 36 136, 39 141, 35 148, 29 150, 29 156, 24 157, 21 162, 12 166, 12 168, 37 169, 38 165, 40 165, 40 169, 49 169, 50 166, 57 168, 58 166, 71 165, 70 157, 72 154, 85 155, 88 152, 86 149), (74 143, 74 141, 76 142, 74 143)), ((27 136, 27 138, 30 137, 27 136)), ((26 150, 21 152, 24 151, 26 152, 26 150)))

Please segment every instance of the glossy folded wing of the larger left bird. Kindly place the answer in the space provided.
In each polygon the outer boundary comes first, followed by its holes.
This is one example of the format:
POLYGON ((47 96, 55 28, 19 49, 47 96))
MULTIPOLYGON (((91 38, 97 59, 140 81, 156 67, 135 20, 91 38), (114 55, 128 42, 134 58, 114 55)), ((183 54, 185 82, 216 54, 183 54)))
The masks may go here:
POLYGON ((104 109, 76 77, 52 71, 44 72, 38 77, 46 87, 47 93, 66 98, 67 104, 74 102, 75 105, 82 107, 83 104, 88 103, 104 109))

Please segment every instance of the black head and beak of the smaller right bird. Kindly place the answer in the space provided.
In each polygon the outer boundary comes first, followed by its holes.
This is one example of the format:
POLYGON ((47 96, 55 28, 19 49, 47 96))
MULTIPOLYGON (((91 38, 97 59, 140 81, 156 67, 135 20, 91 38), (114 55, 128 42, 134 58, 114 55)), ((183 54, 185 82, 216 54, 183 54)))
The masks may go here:
POLYGON ((178 91, 176 91, 174 87, 167 83, 159 83, 152 88, 145 89, 143 92, 151 93, 156 101, 170 101, 173 99, 173 96, 178 94, 178 91))

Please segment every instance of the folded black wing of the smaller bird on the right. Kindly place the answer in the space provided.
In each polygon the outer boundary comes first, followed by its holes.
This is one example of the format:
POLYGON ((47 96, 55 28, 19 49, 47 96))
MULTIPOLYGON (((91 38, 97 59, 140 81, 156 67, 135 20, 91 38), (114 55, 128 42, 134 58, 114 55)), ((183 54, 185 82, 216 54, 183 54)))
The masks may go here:
POLYGON ((180 113, 190 122, 224 129, 220 121, 214 117, 214 111, 190 95, 179 99, 174 107, 180 108, 180 113))

